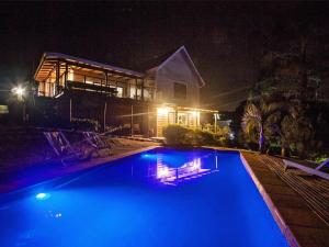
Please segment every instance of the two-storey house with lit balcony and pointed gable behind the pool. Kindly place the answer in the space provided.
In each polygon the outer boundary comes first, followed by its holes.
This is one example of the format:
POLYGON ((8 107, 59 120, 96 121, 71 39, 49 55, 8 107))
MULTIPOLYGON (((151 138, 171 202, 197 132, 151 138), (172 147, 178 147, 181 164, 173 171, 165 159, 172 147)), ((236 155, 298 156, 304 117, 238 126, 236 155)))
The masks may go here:
POLYGON ((37 94, 56 101, 57 115, 94 120, 104 131, 161 136, 168 124, 202 127, 216 113, 200 108, 205 82, 184 46, 139 70, 45 53, 34 79, 37 94))

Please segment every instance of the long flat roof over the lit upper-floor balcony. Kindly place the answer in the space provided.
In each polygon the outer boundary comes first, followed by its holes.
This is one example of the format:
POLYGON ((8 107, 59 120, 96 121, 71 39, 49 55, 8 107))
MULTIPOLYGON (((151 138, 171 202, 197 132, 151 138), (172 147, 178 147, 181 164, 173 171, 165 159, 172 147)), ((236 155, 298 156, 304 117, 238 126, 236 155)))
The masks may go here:
POLYGON ((42 81, 43 78, 45 78, 49 74, 49 71, 52 71, 52 69, 54 68, 54 63, 56 60, 75 63, 76 65, 88 66, 90 68, 101 69, 112 74, 123 75, 127 77, 143 78, 145 76, 145 74, 143 72, 93 61, 81 57, 70 56, 61 53, 44 53, 39 65, 34 74, 34 78, 38 81, 42 81))

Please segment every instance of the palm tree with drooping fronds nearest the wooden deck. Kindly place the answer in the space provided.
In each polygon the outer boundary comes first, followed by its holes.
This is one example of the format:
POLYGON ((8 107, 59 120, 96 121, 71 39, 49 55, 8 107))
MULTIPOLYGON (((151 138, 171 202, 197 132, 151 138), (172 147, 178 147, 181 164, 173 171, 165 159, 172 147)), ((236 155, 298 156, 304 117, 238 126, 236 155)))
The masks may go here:
POLYGON ((259 105, 249 102, 246 105, 241 126, 251 139, 257 133, 259 151, 264 151, 265 139, 276 133, 277 123, 284 106, 283 98, 277 94, 263 94, 259 105))

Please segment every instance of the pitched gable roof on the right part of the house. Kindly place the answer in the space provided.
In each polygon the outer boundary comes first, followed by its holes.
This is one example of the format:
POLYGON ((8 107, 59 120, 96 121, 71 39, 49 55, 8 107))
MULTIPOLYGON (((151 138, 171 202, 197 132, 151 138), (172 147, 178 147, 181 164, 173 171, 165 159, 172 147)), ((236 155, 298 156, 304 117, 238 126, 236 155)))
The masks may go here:
POLYGON ((202 88, 205 86, 205 82, 203 80, 203 78, 201 77, 200 72, 197 71, 192 58, 190 57, 185 46, 181 46, 179 49, 177 49, 175 52, 170 52, 167 53, 162 56, 156 57, 156 59, 152 60, 152 64, 149 63, 149 67, 146 70, 158 70, 160 69, 162 66, 164 66, 168 61, 171 60, 172 57, 174 57, 177 54, 182 53, 184 56, 184 59, 188 61, 188 64, 190 65, 192 71, 194 72, 194 75, 196 76, 197 80, 198 80, 198 86, 202 88))

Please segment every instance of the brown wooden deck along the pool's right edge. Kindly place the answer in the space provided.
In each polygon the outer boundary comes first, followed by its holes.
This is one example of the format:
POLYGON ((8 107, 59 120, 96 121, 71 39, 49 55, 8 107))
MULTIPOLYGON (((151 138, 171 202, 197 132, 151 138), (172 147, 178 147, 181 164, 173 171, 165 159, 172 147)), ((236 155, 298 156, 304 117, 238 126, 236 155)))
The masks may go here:
POLYGON ((249 151, 241 158, 290 245, 329 246, 329 182, 285 171, 280 158, 249 151))

